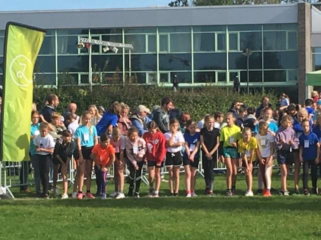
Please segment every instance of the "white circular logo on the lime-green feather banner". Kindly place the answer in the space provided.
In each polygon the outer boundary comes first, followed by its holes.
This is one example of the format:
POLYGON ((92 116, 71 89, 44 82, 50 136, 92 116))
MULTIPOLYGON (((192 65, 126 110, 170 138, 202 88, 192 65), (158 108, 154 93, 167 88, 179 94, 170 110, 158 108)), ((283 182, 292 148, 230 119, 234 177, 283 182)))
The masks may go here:
POLYGON ((26 87, 32 83, 32 79, 27 79, 25 75, 27 67, 31 67, 31 65, 31 60, 25 55, 18 55, 12 60, 10 64, 10 75, 18 86, 26 87), (13 67, 21 67, 22 70, 17 71, 17 73, 15 74, 13 67))

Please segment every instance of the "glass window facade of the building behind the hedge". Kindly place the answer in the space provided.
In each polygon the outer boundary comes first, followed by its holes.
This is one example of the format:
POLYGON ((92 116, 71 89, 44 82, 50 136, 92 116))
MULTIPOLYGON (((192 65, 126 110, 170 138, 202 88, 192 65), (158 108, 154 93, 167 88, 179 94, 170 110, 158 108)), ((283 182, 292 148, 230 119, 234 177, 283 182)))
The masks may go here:
MULTIPOLYGON (((3 43, 1 31, 1 58, 3 43)), ((232 85, 236 77, 245 85, 246 48, 253 51, 250 87, 296 86, 296 23, 48 29, 36 62, 36 83, 56 85, 62 73, 79 85, 121 83, 130 73, 138 84, 172 85, 177 75, 185 87, 232 85), (100 45, 77 48, 80 37, 131 43, 134 49, 129 54, 127 49, 104 52, 100 45)), ((313 53, 315 69, 321 67, 320 49, 313 53)))

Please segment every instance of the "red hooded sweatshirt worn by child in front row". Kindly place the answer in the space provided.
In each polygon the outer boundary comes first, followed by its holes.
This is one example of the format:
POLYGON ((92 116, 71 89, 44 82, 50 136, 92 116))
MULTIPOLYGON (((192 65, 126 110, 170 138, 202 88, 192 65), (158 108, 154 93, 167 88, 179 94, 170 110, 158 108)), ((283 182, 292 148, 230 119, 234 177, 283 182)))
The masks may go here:
POLYGON ((166 138, 164 134, 158 130, 155 134, 146 131, 142 138, 146 141, 147 145, 145 154, 147 161, 156 161, 157 164, 161 164, 166 156, 166 138))

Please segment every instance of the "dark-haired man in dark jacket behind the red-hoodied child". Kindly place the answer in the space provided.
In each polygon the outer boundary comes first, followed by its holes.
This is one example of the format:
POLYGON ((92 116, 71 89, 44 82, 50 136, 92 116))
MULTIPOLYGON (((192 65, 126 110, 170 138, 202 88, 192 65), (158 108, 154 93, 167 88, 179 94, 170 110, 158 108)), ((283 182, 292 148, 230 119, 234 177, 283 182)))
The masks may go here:
POLYGON ((164 97, 161 107, 157 108, 153 113, 153 120, 157 123, 159 130, 163 133, 170 131, 169 111, 173 108, 173 99, 164 97))

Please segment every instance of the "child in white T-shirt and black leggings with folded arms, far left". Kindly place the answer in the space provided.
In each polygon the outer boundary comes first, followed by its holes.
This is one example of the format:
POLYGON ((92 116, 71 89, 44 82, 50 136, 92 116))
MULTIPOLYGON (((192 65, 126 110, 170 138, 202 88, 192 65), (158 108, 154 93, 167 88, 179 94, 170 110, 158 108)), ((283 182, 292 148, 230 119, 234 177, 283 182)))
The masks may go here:
POLYGON ((41 197, 49 197, 49 169, 51 164, 51 156, 54 152, 55 141, 54 138, 48 134, 48 123, 43 122, 40 124, 40 134, 34 139, 37 151, 37 158, 39 161, 39 171, 41 183, 43 185, 43 192, 41 197))

